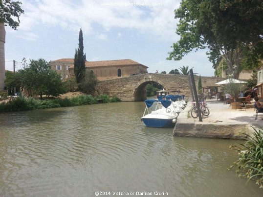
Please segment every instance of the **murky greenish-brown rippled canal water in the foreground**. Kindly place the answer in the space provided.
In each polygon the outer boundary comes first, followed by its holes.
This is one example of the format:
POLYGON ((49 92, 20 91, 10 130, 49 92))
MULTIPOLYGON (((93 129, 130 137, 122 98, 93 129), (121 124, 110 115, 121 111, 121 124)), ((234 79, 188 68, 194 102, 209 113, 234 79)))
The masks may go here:
POLYGON ((0 197, 263 196, 227 170, 240 141, 173 137, 146 127, 143 111, 121 102, 0 114, 0 197))

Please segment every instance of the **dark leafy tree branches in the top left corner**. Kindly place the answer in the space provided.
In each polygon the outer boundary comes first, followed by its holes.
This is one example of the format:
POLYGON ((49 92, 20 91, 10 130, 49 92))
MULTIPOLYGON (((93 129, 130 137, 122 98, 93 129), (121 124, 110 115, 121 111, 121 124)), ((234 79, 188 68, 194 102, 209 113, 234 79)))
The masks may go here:
POLYGON ((24 13, 21 4, 20 1, 0 0, 0 23, 8 24, 12 29, 17 30, 20 15, 24 13))

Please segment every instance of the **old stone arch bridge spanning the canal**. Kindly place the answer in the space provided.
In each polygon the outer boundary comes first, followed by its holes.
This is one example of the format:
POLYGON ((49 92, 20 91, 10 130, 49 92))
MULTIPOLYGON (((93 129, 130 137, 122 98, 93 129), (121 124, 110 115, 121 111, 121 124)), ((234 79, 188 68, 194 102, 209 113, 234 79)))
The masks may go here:
MULTIPOLYGON (((110 97, 118 97, 122 101, 143 101, 146 97, 146 85, 156 82, 163 86, 165 90, 179 90, 180 94, 191 97, 189 88, 190 76, 171 75, 159 73, 146 73, 130 77, 109 79, 99 81, 97 90, 99 94, 108 94, 110 97)), ((198 87, 199 76, 195 76, 198 87)), ((202 86, 215 86, 216 82, 224 78, 201 77, 202 86)))

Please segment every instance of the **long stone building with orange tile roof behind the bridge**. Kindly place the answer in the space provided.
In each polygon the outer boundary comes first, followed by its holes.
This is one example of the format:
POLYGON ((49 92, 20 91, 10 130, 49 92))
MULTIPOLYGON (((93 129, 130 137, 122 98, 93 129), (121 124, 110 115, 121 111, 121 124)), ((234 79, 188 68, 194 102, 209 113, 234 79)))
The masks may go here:
MULTIPOLYGON (((52 70, 61 74, 63 79, 74 76, 74 59, 57 59, 50 61, 52 70)), ((147 66, 132 59, 117 59, 104 61, 86 61, 86 70, 91 70, 98 80, 116 79, 131 75, 144 74, 147 66)))

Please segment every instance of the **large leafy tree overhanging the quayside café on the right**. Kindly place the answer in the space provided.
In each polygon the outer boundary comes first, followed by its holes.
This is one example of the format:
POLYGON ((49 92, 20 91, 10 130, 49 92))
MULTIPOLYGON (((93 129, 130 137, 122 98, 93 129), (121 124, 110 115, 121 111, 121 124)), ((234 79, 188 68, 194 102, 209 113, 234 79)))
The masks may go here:
POLYGON ((262 13, 262 0, 182 0, 175 10, 180 39, 168 59, 208 48, 209 60, 225 59, 228 73, 237 79, 242 59, 263 41, 262 13))

